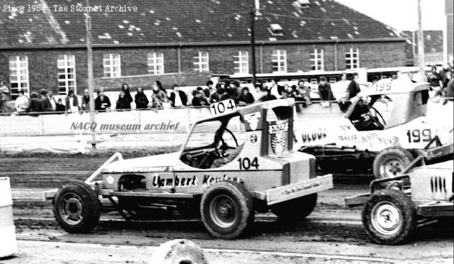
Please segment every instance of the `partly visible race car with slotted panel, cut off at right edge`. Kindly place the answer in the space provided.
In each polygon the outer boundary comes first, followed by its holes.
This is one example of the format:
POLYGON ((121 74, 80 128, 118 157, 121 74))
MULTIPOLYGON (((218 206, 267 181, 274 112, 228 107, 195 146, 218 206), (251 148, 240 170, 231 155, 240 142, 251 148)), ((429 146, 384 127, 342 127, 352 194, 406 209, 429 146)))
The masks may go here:
MULTIPOLYGON (((419 156, 411 167, 422 161, 419 156)), ((374 180, 370 194, 346 197, 348 207, 363 206, 362 225, 373 241, 396 245, 411 238, 418 226, 433 220, 452 226, 453 160, 416 167, 409 173, 374 180)))

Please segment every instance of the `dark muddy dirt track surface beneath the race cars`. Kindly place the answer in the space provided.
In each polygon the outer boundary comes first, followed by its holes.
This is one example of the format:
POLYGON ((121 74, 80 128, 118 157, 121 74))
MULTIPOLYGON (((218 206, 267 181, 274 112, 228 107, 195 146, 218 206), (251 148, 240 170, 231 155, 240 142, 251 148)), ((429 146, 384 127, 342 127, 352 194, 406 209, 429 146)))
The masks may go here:
MULTIPOLYGON (((60 187, 63 182, 69 180, 84 180, 105 160, 106 155, 2 158, 0 176, 11 177, 13 197, 16 197, 13 213, 18 239, 52 241, 65 243, 65 245, 66 243, 90 243, 140 248, 159 246, 160 243, 170 239, 186 238, 199 243, 202 248, 222 250, 386 258, 395 263, 401 263, 403 260, 427 263, 445 260, 448 260, 448 263, 452 262, 454 231, 450 226, 437 224, 425 226, 416 232, 411 243, 404 246, 379 246, 372 243, 362 229, 360 209, 343 207, 343 197, 364 192, 367 185, 336 185, 335 189, 321 193, 314 213, 306 221, 297 224, 278 221, 273 214, 257 214, 255 224, 249 233, 235 241, 214 239, 204 229, 201 221, 182 219, 177 214, 172 219, 155 218, 151 221, 128 223, 121 219, 118 213, 113 212, 103 214, 99 225, 92 233, 84 235, 65 233, 53 219, 50 203, 37 201, 40 192, 48 187, 60 187)), ((228 255, 227 253, 216 254, 228 255)), ((77 258, 77 254, 74 258, 77 258)), ((43 257, 43 259, 50 260, 50 257, 43 257)), ((70 259, 67 263, 95 263, 92 260, 72 262, 70 259)), ((305 262, 295 256, 282 258, 282 256, 271 255, 269 258, 260 258, 256 262, 250 260, 244 263, 305 262)), ((128 258, 128 261, 144 263, 143 256, 138 255, 128 258)), ((309 262, 317 263, 315 258, 309 262)), ((370 263, 371 261, 341 262, 370 263)), ((382 262, 387 263, 387 261, 382 262)), ((8 261, 0 260, 0 263, 43 263, 43 261, 22 262, 15 258, 8 261)), ((62 263, 62 261, 55 260, 49 263, 62 263)), ((125 261, 118 263, 125 263, 125 261)))

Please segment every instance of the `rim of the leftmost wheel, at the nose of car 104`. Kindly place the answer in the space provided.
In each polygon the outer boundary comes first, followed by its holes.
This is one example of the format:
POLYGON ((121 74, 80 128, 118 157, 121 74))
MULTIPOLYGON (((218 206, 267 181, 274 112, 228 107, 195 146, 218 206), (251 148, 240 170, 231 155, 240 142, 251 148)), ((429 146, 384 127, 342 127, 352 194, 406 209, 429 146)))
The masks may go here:
POLYGON ((72 226, 79 224, 84 219, 84 204, 82 199, 73 192, 63 195, 58 209, 63 221, 72 226))

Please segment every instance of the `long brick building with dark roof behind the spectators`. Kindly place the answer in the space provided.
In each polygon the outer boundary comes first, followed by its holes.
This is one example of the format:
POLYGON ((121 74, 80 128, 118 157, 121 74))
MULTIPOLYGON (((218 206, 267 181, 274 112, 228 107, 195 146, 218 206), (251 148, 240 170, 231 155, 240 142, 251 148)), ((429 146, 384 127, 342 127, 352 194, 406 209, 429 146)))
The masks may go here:
MULTIPOLYGON (((30 0, 6 0, 25 6, 30 0)), ((43 11, 0 11, 0 79, 19 88, 82 93, 87 82, 85 1, 34 0, 43 11), (68 11, 62 11, 62 7, 68 11)), ((119 2, 119 1, 118 1, 119 2)), ((213 73, 251 69, 253 1, 121 1, 137 11, 90 12, 97 87, 199 85, 213 73)), ((121 7, 120 6, 120 7, 121 7)), ((1 6, 5 8, 5 6, 1 6)), ((332 0, 260 1, 255 21, 258 73, 406 65, 407 37, 332 0)))

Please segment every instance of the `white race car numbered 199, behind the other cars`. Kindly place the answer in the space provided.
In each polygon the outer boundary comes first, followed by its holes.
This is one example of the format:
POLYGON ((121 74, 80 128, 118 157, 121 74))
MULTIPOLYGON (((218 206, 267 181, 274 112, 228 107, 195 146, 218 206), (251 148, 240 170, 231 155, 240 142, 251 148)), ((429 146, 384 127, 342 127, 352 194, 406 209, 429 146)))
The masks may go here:
POLYGON ((372 167, 376 178, 401 174, 418 155, 452 159, 453 105, 443 106, 440 120, 428 118, 428 89, 408 77, 377 82, 350 99, 343 116, 297 122, 296 147, 322 170, 372 167))

